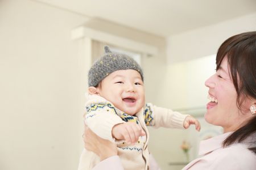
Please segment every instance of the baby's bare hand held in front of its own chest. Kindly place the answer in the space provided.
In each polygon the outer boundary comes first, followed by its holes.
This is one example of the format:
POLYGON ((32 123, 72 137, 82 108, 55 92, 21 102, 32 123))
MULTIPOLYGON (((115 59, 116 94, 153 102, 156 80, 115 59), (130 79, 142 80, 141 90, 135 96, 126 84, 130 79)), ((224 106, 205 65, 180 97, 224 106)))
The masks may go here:
POLYGON ((112 136, 115 139, 125 141, 130 144, 134 144, 138 141, 139 137, 146 135, 140 125, 135 122, 125 122, 123 124, 115 125, 112 129, 112 136))

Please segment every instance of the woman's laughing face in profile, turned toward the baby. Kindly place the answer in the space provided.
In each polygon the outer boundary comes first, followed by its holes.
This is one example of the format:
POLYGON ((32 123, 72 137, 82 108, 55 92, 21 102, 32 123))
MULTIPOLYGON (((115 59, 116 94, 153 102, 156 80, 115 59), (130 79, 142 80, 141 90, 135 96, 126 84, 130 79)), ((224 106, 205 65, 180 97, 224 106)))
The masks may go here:
POLYGON ((237 92, 230 78, 228 58, 225 57, 216 73, 205 82, 209 88, 205 120, 209 124, 222 126, 224 133, 236 130, 245 120, 237 107, 237 92))

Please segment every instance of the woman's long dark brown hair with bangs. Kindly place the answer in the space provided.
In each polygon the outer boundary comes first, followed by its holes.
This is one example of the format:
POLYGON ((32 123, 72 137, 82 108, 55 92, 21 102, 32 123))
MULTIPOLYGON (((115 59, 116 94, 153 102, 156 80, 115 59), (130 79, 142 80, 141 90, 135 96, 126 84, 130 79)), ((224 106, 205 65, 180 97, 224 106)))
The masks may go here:
MULTIPOLYGON (((219 69, 224 57, 228 57, 230 75, 237 92, 237 106, 242 110, 243 99, 256 99, 256 31, 245 32, 224 41, 217 52, 216 70, 219 69)), ((243 142, 256 133, 256 115, 234 131, 223 142, 227 147, 235 142, 243 142)), ((256 153, 256 139, 250 141, 249 150, 256 153)))

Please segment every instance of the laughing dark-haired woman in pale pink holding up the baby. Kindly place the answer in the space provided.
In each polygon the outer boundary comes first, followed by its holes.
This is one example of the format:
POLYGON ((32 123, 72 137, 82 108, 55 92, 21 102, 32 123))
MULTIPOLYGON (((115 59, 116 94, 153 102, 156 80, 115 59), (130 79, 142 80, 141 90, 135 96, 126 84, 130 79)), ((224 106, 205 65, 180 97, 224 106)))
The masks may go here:
MULTIPOLYGON (((256 169, 256 32, 230 37, 218 49, 216 74, 205 86, 205 120, 224 134, 202 141, 199 155, 184 169, 256 169)), ((100 156, 94 169, 123 169, 114 143, 85 127, 85 147, 100 156), (112 167, 111 167, 112 166, 112 167)), ((158 169, 151 163, 150 169, 158 169)))

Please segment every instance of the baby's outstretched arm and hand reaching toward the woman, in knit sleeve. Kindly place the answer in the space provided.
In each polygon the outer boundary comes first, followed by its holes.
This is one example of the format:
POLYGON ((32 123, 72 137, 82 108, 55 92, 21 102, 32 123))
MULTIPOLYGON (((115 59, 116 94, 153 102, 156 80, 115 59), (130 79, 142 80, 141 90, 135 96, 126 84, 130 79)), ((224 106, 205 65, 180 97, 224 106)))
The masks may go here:
POLYGON ((146 125, 154 126, 155 128, 187 129, 191 124, 195 124, 196 129, 200 129, 199 122, 189 114, 181 114, 171 109, 156 107, 150 103, 146 104, 144 116, 146 125))

